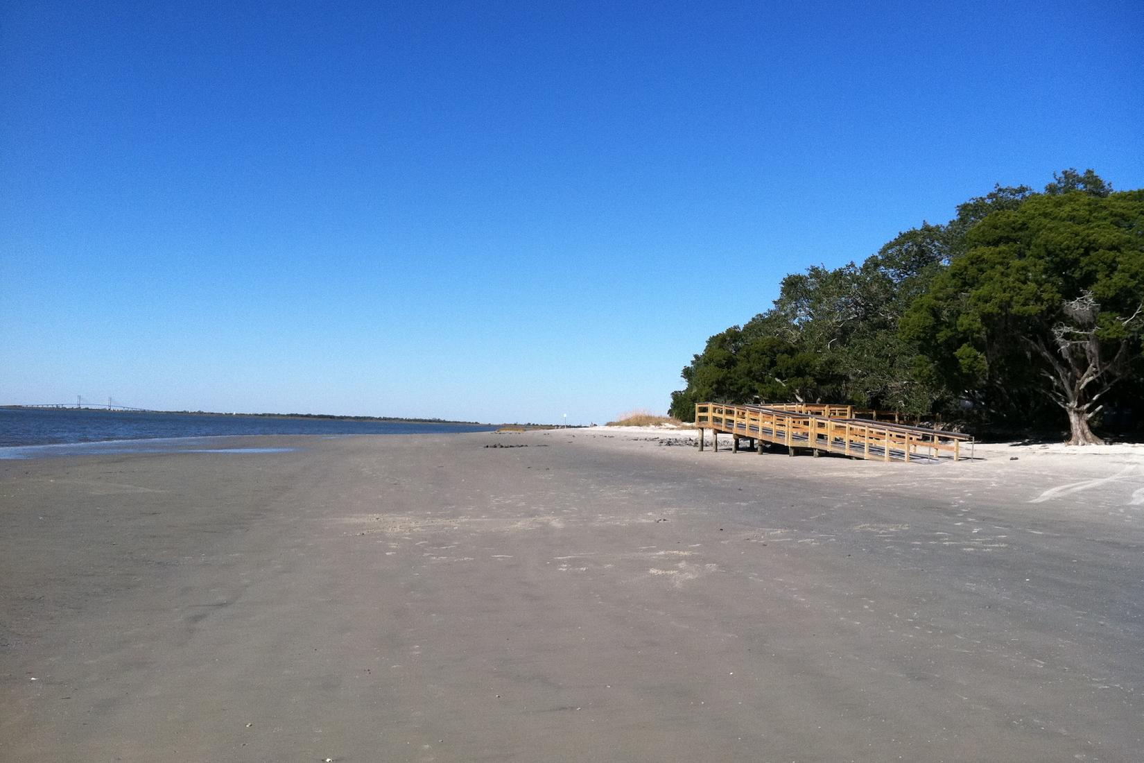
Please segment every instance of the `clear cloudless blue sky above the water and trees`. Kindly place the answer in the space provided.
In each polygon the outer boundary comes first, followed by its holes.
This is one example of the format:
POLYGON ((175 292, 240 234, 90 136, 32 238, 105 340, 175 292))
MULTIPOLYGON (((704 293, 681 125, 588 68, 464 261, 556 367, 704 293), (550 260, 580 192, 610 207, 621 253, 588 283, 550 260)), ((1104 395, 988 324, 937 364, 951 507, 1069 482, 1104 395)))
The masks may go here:
POLYGON ((603 421, 993 184, 1144 186, 1139 2, 0 8, 0 403, 603 421))

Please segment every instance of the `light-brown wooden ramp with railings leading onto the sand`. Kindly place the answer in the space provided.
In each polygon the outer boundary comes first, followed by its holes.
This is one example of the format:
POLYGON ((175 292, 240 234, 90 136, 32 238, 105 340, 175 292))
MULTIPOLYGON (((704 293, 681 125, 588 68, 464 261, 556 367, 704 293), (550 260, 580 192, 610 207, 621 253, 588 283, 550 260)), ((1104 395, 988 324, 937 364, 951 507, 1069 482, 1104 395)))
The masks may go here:
MULTIPOLYGON (((972 437, 960 432, 907 427, 868 419, 856 419, 849 405, 782 404, 782 405, 726 405, 699 403, 696 405, 696 427, 699 428, 699 450, 704 450, 704 430, 715 435, 748 439, 763 452, 766 443, 785 445, 794 455, 796 450, 809 450, 815 455, 837 453, 856 459, 881 461, 936 461, 961 458, 961 444, 972 437)), ((715 439, 718 450, 718 438, 715 439)))

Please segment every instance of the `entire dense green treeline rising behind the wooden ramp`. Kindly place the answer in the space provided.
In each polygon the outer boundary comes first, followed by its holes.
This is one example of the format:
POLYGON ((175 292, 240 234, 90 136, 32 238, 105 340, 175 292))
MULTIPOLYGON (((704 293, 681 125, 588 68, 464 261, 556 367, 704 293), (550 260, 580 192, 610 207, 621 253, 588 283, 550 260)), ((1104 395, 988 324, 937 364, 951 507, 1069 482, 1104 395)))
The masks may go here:
POLYGON ((1042 192, 996 185, 861 264, 782 279, 773 307, 709 340, 672 415, 694 404, 837 402, 996 434, 1138 426, 1144 190, 1091 169, 1042 192))

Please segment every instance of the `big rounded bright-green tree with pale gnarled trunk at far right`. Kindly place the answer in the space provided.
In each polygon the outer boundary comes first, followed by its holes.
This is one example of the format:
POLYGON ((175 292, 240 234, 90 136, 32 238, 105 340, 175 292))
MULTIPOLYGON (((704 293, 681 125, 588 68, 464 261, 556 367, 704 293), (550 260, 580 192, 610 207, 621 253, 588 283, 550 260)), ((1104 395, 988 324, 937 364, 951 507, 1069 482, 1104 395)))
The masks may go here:
MULTIPOLYGON (((1048 396, 1072 444, 1117 383, 1139 383, 1144 191, 1066 170, 1044 194, 992 210, 903 319, 936 375, 977 403, 1048 396)), ((1032 407, 1033 404, 1028 404, 1032 407)))

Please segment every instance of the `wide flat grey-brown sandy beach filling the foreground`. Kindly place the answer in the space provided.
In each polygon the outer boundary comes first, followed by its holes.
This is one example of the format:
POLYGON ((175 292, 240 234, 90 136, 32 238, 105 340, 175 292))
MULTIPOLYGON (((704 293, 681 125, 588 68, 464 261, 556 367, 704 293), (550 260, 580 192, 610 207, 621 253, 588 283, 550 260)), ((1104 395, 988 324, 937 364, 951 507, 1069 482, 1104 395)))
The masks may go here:
POLYGON ((1139 760, 1144 450, 688 437, 0 461, 0 758, 1139 760))

